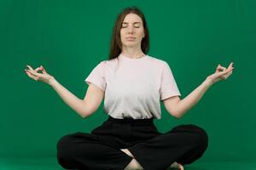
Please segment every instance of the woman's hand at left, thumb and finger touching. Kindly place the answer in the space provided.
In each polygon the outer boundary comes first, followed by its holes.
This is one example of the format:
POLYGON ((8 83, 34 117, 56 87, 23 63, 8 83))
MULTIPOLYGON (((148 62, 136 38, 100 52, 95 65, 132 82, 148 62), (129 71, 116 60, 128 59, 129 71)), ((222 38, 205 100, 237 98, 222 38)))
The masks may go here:
POLYGON ((35 81, 41 81, 45 82, 47 84, 50 83, 51 80, 54 80, 54 77, 50 76, 44 69, 44 67, 41 65, 40 67, 36 68, 35 70, 32 69, 30 65, 26 65, 28 67, 28 70, 25 69, 26 75, 28 77, 31 77, 35 81), (42 71, 42 73, 39 73, 38 71, 42 71))

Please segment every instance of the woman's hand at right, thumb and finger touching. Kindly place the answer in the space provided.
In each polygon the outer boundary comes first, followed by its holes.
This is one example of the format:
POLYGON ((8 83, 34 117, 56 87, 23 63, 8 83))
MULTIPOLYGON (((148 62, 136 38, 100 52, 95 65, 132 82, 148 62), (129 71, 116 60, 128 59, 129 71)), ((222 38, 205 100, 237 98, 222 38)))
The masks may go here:
POLYGON ((218 82, 220 80, 225 80, 232 74, 232 71, 235 68, 233 67, 233 62, 230 63, 228 68, 225 68, 224 66, 218 65, 216 68, 215 73, 207 77, 207 82, 212 85, 215 82, 218 82))

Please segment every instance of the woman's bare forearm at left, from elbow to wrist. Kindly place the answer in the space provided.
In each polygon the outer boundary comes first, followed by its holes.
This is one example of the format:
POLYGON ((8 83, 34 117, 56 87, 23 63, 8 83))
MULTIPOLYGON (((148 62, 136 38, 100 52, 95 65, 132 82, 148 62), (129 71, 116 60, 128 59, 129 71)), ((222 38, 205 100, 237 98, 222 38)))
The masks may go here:
POLYGON ((61 96, 61 99, 63 99, 73 111, 76 111, 79 116, 84 117, 84 101, 82 99, 77 98, 74 94, 69 92, 67 88, 64 88, 61 83, 55 80, 55 78, 52 78, 49 81, 49 85, 55 89, 57 94, 61 96))

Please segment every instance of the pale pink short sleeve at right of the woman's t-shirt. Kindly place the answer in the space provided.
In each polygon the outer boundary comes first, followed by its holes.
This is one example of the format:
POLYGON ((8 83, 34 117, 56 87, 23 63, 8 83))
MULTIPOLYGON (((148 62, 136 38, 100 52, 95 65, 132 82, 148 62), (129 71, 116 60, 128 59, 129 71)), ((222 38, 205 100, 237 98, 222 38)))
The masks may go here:
POLYGON ((160 81, 160 99, 164 100, 172 96, 181 96, 177 83, 172 75, 172 70, 170 66, 165 62, 164 68, 161 72, 161 81, 160 81))

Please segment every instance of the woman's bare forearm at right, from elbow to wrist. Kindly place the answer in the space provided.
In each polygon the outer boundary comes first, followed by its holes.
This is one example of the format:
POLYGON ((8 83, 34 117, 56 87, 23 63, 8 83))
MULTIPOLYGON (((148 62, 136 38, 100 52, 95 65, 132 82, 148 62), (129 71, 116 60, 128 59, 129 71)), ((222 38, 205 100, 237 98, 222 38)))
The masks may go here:
POLYGON ((177 118, 182 117, 189 109, 191 109, 202 96, 207 92, 207 89, 212 86, 212 83, 207 79, 201 83, 200 86, 195 88, 186 98, 181 99, 177 103, 176 116, 177 118))

